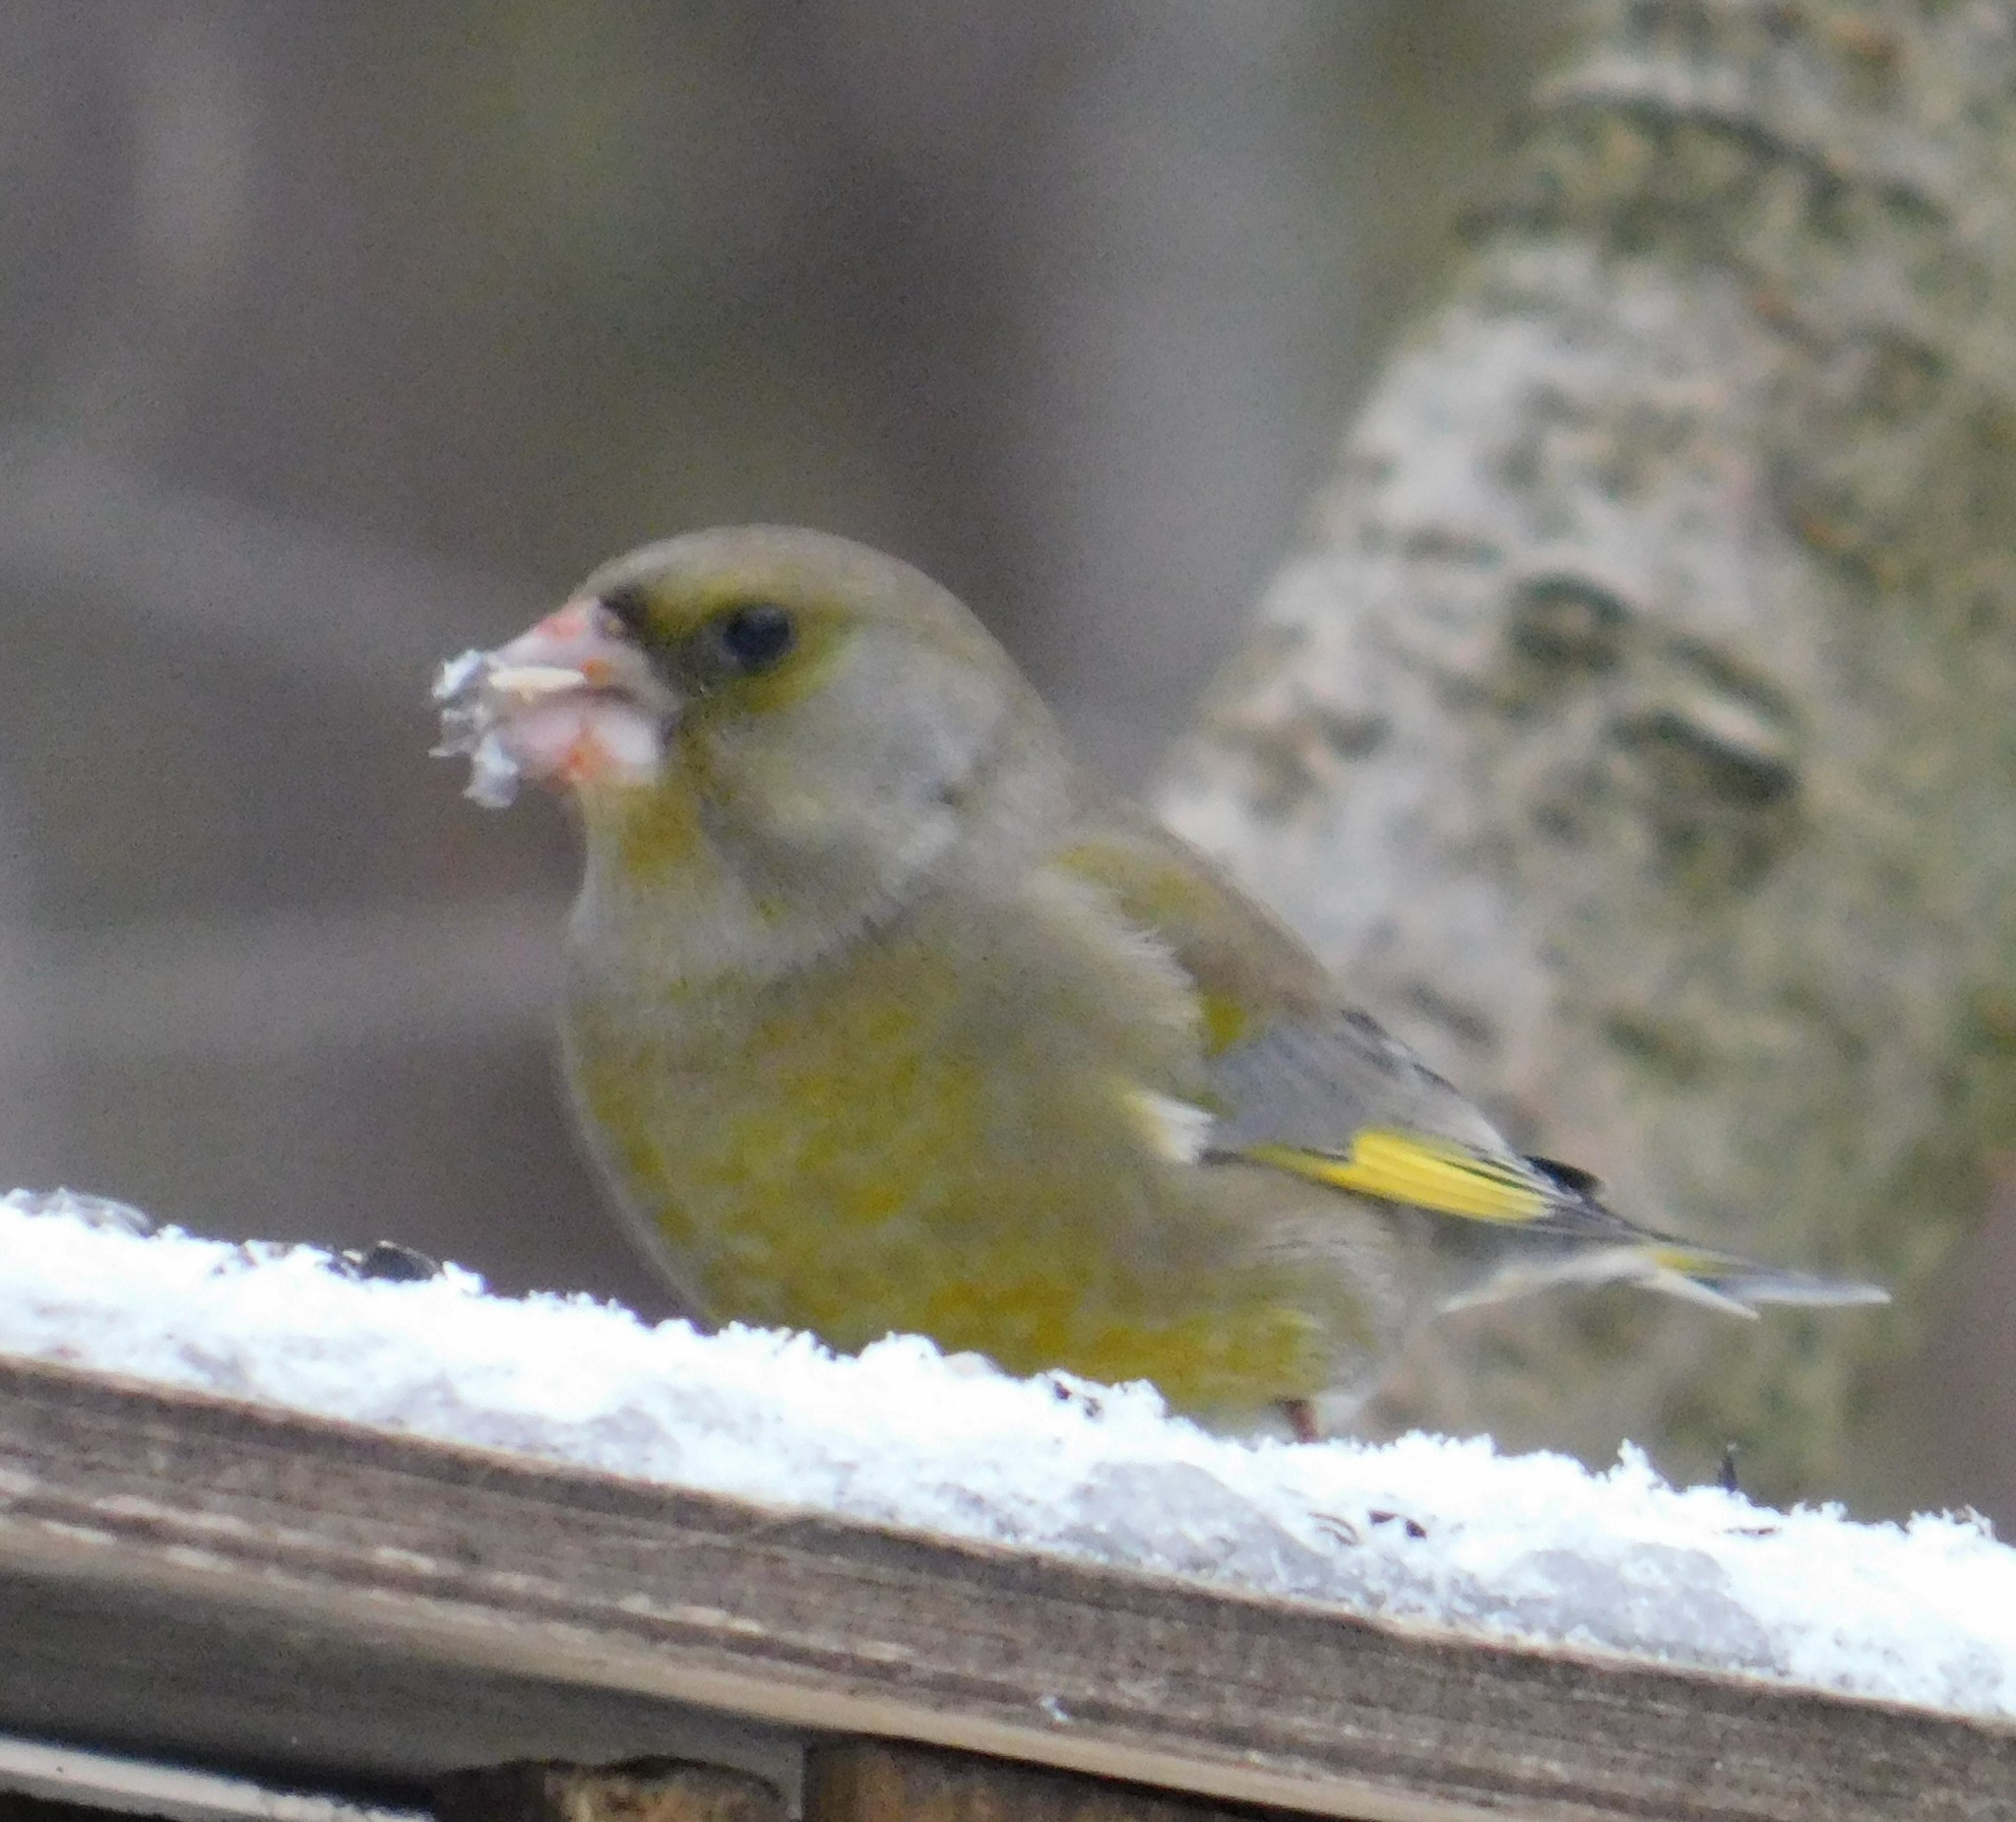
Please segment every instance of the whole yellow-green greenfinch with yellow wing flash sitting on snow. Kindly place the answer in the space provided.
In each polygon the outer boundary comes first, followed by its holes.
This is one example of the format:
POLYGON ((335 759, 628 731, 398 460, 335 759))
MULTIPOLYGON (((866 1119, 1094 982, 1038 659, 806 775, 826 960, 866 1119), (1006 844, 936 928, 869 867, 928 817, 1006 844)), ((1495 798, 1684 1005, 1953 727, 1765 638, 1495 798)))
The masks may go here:
POLYGON ((435 695, 472 796, 579 810, 566 1082, 702 1320, 909 1330, 1314 1435, 1417 1322, 1536 1284, 1883 1296, 1522 1157, 889 556, 647 544, 435 695))

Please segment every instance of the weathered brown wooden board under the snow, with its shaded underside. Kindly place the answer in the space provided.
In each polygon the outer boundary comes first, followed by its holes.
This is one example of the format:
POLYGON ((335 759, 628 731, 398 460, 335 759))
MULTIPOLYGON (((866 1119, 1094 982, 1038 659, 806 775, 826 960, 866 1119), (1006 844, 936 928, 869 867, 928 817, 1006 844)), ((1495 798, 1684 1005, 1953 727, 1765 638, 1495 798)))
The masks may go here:
POLYGON ((712 1709, 750 1741, 869 1733, 1371 1822, 2016 1816, 2010 1727, 26 1362, 0 1362, 0 1725, 165 1758, 192 1727, 216 1760, 381 1780, 714 1758, 669 1743, 712 1709), (597 1725, 615 1751, 569 1743, 597 1725))

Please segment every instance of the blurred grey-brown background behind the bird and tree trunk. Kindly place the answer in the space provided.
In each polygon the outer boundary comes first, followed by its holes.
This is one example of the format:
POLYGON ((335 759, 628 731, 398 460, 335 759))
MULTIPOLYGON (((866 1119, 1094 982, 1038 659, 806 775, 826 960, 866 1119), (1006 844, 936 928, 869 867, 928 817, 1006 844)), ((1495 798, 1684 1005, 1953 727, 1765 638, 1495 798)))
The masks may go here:
POLYGON ((1564 14, 0 4, 0 1175, 663 1310, 554 1086, 573 840, 425 758, 433 663, 802 520, 1143 784, 1564 14))

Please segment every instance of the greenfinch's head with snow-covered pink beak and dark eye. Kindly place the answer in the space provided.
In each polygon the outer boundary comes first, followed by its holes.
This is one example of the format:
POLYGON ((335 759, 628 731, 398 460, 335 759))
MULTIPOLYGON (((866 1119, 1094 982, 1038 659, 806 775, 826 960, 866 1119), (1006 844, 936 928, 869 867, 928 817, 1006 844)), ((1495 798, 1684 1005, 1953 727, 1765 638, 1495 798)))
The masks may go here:
POLYGON ((871 919, 976 842, 1020 844, 1062 792, 1058 736, 980 623, 808 530, 633 550, 437 695, 472 794, 573 794, 591 889, 712 869, 772 923, 871 919))

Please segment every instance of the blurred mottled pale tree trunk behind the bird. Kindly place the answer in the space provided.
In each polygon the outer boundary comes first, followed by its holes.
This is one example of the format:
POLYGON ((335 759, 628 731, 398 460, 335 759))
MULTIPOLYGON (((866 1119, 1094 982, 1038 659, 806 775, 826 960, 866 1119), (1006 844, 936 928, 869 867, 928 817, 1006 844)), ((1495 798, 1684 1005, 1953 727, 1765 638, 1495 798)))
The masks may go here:
POLYGON ((1899 1292, 1556 1294, 1385 1421, 1895 1498, 2016 1131, 2012 202, 2010 4, 1593 6, 1181 752, 1175 826, 1516 1141, 1899 1292))

